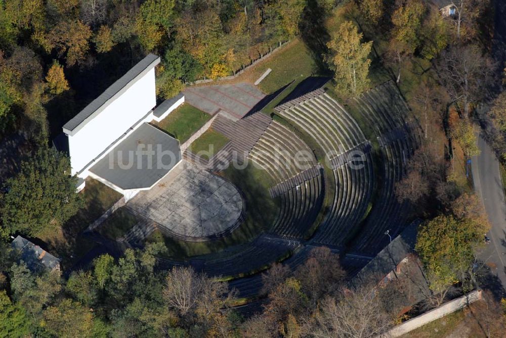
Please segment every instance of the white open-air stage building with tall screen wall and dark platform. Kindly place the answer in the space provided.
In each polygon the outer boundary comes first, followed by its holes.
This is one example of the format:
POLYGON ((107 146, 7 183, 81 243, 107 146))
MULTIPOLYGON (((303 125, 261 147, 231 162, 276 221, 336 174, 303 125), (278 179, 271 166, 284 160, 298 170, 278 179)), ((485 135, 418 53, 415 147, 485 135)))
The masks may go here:
POLYGON ((67 148, 78 190, 93 177, 128 200, 181 162, 179 141, 149 123, 184 102, 179 94, 155 107, 159 63, 149 54, 63 126, 66 140, 57 144, 67 148))

